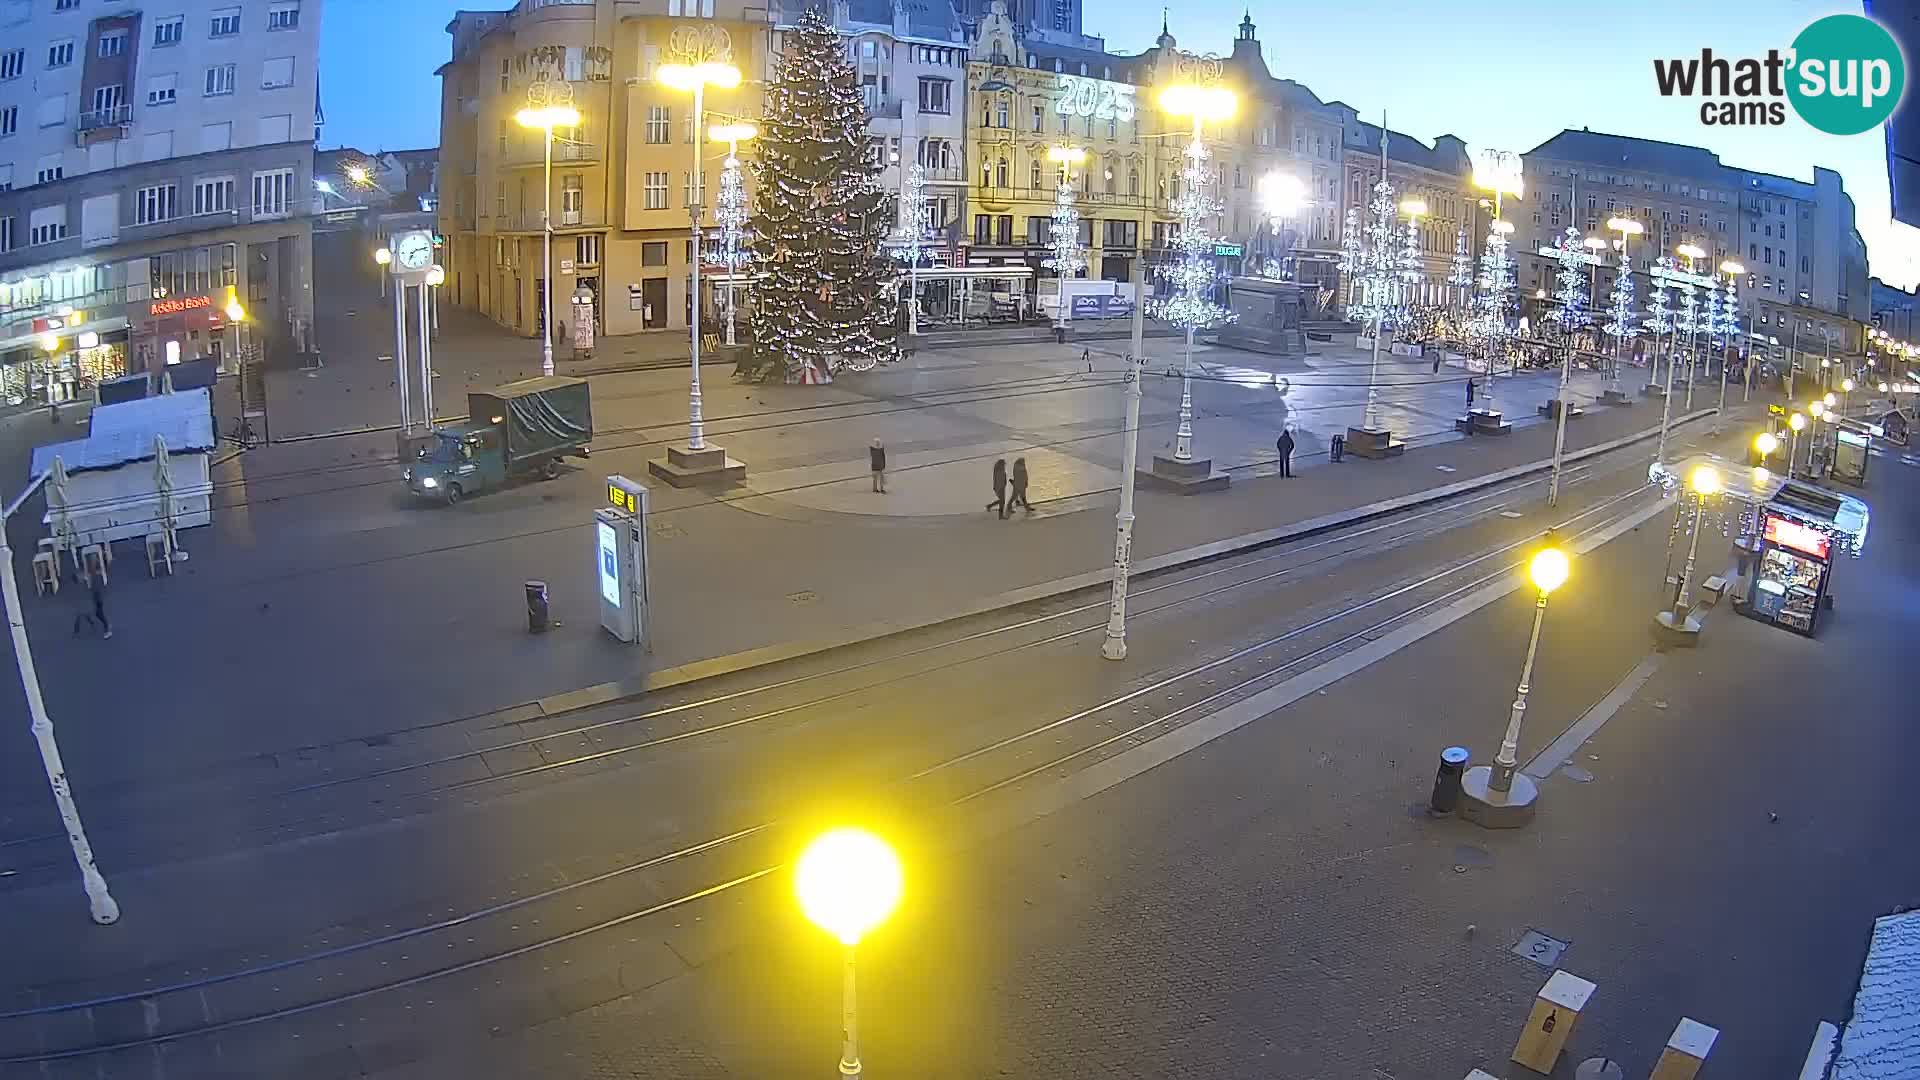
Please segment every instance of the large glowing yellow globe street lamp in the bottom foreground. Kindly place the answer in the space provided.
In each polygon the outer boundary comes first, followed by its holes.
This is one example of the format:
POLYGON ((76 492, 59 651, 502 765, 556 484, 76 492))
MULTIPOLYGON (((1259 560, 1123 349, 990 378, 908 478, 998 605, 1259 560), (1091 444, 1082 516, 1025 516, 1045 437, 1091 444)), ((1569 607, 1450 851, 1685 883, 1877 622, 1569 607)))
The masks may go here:
POLYGON ((852 963, 860 938, 881 924, 900 901, 900 859, 887 842, 862 828, 835 828, 801 851, 793 892, 801 911, 845 945, 841 984, 841 1076, 860 1076, 860 1036, 854 1011, 852 963))

